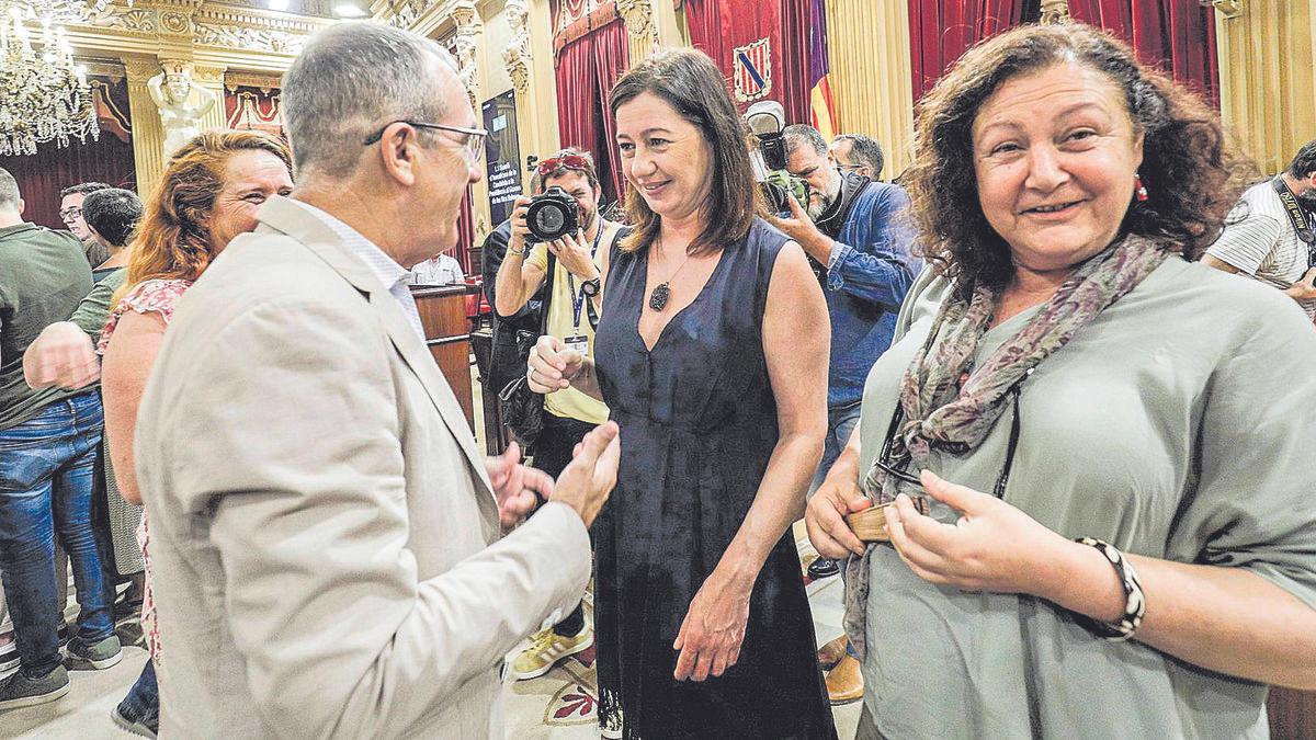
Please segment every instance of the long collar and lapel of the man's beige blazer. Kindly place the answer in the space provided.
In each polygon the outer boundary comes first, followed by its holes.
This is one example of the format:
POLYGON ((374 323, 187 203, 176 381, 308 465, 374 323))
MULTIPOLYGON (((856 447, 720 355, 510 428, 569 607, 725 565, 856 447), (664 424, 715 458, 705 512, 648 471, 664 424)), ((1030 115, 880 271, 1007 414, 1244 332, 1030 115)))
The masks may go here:
POLYGON ((393 349, 412 369, 412 373, 420 378, 430 403, 475 470, 475 479, 479 481, 476 492, 482 499, 486 499, 484 503, 492 506, 496 519, 497 502, 494 499, 494 486, 490 483, 488 470, 484 467, 484 456, 475 446, 475 436, 471 435, 470 427, 466 424, 466 415, 462 412, 453 388, 438 370, 438 365, 434 363, 424 340, 416 334, 416 329, 412 328, 401 305, 397 304, 397 299, 388 292, 365 262, 351 254, 328 224, 301 205, 287 198, 272 196, 261 207, 257 219, 270 229, 282 232, 305 245, 353 287, 368 296, 370 307, 383 319, 393 349))

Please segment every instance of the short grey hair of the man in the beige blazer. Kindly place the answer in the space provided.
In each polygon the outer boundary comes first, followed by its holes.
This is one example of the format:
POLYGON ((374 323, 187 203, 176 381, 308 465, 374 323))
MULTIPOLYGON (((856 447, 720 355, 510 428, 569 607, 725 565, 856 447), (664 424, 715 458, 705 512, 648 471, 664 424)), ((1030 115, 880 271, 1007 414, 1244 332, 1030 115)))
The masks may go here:
POLYGON ((441 120, 447 111, 432 59, 457 71, 434 41, 383 24, 346 22, 315 34, 283 75, 283 121, 297 174, 343 176, 372 129, 441 120))

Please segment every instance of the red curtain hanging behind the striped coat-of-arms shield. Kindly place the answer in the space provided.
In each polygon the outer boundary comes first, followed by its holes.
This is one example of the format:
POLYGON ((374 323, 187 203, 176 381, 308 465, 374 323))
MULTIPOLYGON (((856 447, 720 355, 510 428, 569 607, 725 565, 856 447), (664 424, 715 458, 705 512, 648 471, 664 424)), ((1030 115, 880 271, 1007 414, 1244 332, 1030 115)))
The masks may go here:
MULTIPOLYGON (((765 99, 786 109, 787 124, 811 121, 811 0, 686 0, 690 40, 734 80, 736 49, 767 40, 771 87, 765 99)), ((734 84, 732 86, 734 90, 734 84)), ((740 103, 746 103, 740 100, 740 103)))

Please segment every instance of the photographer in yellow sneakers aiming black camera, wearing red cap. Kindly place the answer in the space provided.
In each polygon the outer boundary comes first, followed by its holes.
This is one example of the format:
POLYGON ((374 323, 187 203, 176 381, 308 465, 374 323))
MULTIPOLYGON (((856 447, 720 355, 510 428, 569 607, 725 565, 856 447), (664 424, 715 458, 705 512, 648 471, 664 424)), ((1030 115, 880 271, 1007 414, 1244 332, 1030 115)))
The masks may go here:
MULTIPOLYGON (((494 308, 511 316, 547 282, 546 333, 592 357, 603 304, 600 255, 612 249, 624 229, 599 216, 603 191, 588 153, 563 149, 540 162, 537 175, 540 192, 513 205, 512 237, 499 266, 494 308)), ((555 477, 571 461, 576 444, 608 420, 608 407, 569 388, 545 396, 542 417, 533 465, 555 477)), ((511 673, 519 679, 544 675, 559 660, 591 645, 594 631, 576 604, 566 619, 533 637, 512 662, 511 673)))

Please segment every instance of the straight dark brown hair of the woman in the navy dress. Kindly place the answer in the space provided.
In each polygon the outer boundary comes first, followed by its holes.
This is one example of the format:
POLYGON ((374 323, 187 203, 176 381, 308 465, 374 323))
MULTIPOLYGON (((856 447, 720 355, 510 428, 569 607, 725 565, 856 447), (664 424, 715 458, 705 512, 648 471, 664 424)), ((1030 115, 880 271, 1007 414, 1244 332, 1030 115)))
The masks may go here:
MULTIPOLYGON (((686 251, 705 254, 740 241, 754 223, 761 196, 745 146, 745 124, 732 103, 722 72, 701 51, 659 51, 617 80, 608 100, 613 117, 617 108, 645 92, 667 101, 682 119, 697 128, 713 153, 709 172, 712 194, 704 211, 709 217, 686 251)), ((662 224, 662 217, 649 208, 629 182, 626 221, 634 225, 634 230, 621 242, 622 251, 636 251, 653 244, 662 224)))

